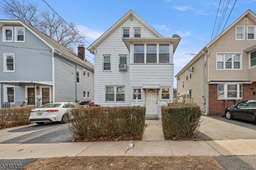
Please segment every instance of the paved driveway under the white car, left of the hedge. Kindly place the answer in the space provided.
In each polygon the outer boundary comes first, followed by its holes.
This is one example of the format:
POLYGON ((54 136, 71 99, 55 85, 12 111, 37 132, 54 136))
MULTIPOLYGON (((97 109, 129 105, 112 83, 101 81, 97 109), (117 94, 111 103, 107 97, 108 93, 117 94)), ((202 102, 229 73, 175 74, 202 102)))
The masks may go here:
POLYGON ((60 143, 71 142, 68 123, 45 123, 0 130, 0 143, 60 143))

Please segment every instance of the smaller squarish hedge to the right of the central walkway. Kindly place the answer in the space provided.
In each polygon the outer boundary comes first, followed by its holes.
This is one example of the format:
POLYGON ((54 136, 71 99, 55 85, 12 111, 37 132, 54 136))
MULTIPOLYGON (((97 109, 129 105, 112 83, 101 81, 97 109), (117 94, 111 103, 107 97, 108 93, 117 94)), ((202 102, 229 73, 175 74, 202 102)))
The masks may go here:
POLYGON ((162 106, 162 125, 166 140, 197 138, 202 112, 193 103, 173 103, 162 106))

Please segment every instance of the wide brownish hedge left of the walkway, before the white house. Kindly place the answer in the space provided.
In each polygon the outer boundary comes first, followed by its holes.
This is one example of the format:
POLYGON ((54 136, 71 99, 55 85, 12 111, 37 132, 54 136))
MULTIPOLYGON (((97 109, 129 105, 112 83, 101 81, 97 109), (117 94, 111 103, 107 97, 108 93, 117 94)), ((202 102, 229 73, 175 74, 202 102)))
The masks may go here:
POLYGON ((66 112, 76 141, 141 140, 145 107, 85 107, 66 112))

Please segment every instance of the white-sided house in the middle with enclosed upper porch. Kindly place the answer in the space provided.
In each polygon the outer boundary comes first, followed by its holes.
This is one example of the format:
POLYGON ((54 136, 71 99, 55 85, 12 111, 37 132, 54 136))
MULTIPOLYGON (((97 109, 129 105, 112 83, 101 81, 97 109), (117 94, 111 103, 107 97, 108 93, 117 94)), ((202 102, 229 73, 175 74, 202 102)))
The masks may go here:
POLYGON ((127 12, 87 48, 95 57, 95 103, 144 105, 146 117, 161 117, 160 107, 173 98, 173 53, 180 39, 162 37, 127 12))

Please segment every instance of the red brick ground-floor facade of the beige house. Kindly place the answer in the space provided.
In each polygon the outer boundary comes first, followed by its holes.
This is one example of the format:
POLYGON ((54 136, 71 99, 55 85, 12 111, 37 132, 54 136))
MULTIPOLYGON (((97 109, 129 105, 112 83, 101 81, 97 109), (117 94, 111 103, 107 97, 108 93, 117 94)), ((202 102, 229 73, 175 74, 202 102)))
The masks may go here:
POLYGON ((256 82, 252 84, 243 84, 242 100, 218 100, 218 84, 208 85, 208 113, 209 115, 223 115, 227 107, 230 107, 243 100, 256 99, 253 92, 256 91, 256 82))

